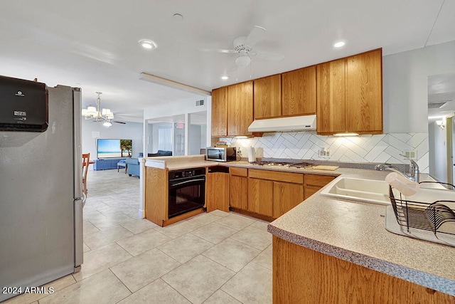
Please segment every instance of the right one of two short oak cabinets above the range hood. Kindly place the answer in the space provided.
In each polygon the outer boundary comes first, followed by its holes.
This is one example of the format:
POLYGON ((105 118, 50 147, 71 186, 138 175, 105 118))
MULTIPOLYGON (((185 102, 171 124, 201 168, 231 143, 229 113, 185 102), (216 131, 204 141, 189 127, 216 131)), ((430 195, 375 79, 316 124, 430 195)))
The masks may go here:
POLYGON ((282 73, 282 116, 311 114, 316 114, 316 65, 282 73))

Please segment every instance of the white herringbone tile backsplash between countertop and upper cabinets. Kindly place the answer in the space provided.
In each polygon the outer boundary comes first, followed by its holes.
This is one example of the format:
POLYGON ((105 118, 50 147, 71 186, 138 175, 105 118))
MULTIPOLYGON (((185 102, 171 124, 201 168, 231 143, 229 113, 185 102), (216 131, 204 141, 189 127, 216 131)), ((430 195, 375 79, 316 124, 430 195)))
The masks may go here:
POLYGON ((247 148, 255 147, 257 157, 285 159, 316 159, 335 162, 388 162, 408 164, 403 152, 415 152, 420 172, 428 173, 428 133, 388 133, 336 137, 311 132, 264 133, 262 137, 220 138, 231 146, 240 147, 242 157, 248 157, 247 148), (320 150, 329 152, 319 156, 320 150))

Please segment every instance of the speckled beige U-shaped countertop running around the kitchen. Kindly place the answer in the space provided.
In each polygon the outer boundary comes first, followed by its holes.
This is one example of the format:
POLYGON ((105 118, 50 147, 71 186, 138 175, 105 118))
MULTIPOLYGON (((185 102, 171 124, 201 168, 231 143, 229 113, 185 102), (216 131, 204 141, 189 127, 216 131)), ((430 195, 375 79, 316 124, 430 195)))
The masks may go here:
MULTIPOLYGON (((390 173, 342 167, 326 171, 259 167, 248 162, 207 162, 203 155, 171 158, 148 157, 144 164, 146 167, 167 167, 170 171, 223 165, 382 180, 390 173)), ((427 179, 424 174, 422 177, 422 180, 427 179)), ((333 199, 320 192, 270 223, 268 231, 299 246, 455 295, 454 247, 385 230, 383 205, 333 199)))

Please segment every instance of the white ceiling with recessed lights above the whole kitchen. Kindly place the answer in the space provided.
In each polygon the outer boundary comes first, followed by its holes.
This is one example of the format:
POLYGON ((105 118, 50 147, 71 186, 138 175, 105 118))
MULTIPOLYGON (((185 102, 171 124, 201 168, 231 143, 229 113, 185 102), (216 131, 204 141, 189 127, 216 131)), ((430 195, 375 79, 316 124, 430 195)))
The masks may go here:
POLYGON ((83 106, 101 91, 102 106, 125 121, 156 104, 198 98, 139 80, 141 72, 211 90, 374 48, 388 55, 455 40, 455 0, 1 0, 0 7, 1 75, 81 87, 83 106), (228 72, 235 55, 198 50, 232 48, 255 25, 267 29, 255 49, 283 53, 283 61, 253 58, 251 68, 228 72), (143 38, 158 48, 141 48, 143 38), (346 46, 334 49, 340 39, 346 46))

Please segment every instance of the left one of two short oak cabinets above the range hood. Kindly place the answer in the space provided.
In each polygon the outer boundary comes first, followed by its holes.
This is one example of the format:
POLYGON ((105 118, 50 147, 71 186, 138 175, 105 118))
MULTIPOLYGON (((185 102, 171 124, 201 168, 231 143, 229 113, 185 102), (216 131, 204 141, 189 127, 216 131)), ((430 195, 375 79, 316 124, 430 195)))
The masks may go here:
POLYGON ((282 76, 272 75, 254 80, 255 119, 282 115, 282 76))

